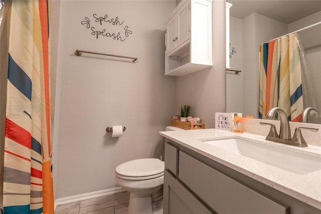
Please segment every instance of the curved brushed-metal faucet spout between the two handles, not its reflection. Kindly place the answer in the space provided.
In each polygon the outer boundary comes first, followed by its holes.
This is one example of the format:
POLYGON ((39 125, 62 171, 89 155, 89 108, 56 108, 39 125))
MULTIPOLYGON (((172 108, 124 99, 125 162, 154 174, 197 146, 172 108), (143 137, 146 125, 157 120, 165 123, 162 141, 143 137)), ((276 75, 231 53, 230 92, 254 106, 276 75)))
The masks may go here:
POLYGON ((289 120, 287 119, 286 113, 281 108, 275 107, 270 109, 266 114, 266 118, 274 118, 276 113, 278 113, 278 116, 281 121, 279 138, 283 140, 290 140, 291 130, 289 120))

